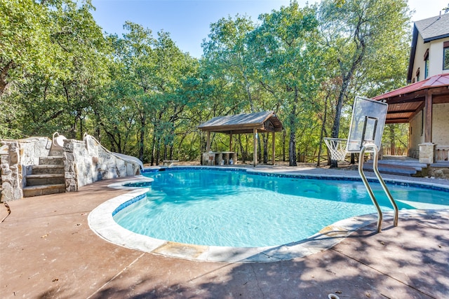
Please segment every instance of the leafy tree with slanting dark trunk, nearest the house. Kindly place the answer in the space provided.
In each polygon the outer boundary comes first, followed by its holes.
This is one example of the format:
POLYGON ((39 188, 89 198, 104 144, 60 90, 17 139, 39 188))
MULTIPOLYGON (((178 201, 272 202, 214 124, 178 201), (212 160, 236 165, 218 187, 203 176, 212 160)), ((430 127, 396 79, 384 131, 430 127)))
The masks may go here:
MULTIPOLYGON (((339 84, 333 95, 334 138, 339 137, 347 99, 386 92, 405 83, 410 20, 406 0, 347 0, 340 4, 323 0, 319 13, 329 74, 340 77, 334 80, 339 84)), ((332 166, 337 166, 336 161, 332 166)))

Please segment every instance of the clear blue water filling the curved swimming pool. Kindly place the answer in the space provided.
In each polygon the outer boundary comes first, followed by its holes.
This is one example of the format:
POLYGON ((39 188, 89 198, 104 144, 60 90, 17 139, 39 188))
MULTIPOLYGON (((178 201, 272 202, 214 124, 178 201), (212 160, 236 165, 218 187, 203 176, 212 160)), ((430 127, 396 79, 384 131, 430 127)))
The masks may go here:
MULTIPOLYGON (((151 172, 147 197, 114 212, 119 225, 173 242, 258 247, 305 239, 345 218, 375 213, 361 181, 265 176, 217 169, 151 172)), ((371 183, 382 211, 391 204, 371 183)), ((399 209, 449 208, 449 193, 388 184, 399 209)))

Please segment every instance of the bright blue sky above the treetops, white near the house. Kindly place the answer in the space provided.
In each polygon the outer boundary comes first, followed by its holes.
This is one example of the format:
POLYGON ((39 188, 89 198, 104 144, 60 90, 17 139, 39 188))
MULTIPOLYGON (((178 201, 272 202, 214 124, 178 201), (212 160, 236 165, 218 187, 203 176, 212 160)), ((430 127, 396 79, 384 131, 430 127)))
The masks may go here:
MULTIPOLYGON (((306 0, 297 1, 300 6, 306 0)), ((315 3, 309 0, 309 3, 315 3)), ((248 15, 254 22, 262 13, 270 13, 289 0, 93 0, 93 17, 104 32, 123 34, 123 24, 131 21, 152 29, 153 35, 170 32, 178 48, 194 57, 201 57, 201 43, 210 33, 210 24, 220 18, 248 15)), ((412 20, 438 15, 449 0, 408 0, 416 13, 412 20)), ((411 31, 411 29, 410 29, 411 31)))

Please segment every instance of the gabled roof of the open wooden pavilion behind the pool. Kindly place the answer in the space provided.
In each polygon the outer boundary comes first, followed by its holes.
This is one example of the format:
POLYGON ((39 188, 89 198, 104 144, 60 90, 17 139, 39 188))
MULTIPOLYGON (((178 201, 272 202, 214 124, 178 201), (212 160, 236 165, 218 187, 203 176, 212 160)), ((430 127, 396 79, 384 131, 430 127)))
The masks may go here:
POLYGON ((259 132, 280 132, 283 129, 281 120, 274 111, 237 114, 233 116, 217 116, 198 126, 202 131, 222 132, 230 134, 259 132))

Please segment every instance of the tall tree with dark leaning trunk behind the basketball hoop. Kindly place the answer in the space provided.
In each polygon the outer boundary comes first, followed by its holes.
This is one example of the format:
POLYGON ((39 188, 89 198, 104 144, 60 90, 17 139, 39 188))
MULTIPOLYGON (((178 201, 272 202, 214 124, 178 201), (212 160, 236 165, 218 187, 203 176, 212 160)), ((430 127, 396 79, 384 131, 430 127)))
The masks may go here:
MULTIPOLYGON (((321 32, 331 54, 331 63, 336 63, 338 76, 342 78, 331 137, 339 136, 344 100, 356 75, 363 74, 363 62, 385 47, 384 41, 389 41, 387 46, 396 46, 390 35, 404 35, 408 29, 407 12, 405 0, 321 2, 321 32)), ((337 161, 333 160, 331 167, 337 167, 337 161)))

